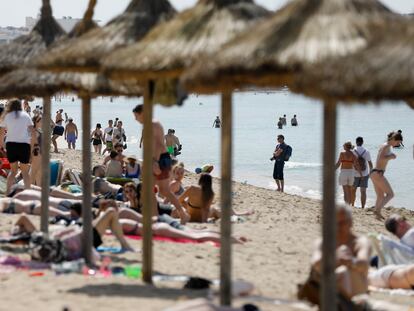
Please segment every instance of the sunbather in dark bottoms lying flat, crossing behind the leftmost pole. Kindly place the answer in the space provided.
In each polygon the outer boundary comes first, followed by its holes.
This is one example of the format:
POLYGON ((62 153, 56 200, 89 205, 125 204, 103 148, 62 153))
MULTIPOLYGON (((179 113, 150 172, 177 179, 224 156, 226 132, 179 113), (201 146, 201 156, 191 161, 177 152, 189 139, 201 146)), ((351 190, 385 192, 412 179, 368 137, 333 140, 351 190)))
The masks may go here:
MULTIPOLYGON (((22 201, 15 198, 1 198, 0 212, 6 214, 31 214, 40 215, 41 203, 39 200, 22 201)), ((61 211, 53 206, 49 206, 49 216, 69 216, 69 211, 61 211)))

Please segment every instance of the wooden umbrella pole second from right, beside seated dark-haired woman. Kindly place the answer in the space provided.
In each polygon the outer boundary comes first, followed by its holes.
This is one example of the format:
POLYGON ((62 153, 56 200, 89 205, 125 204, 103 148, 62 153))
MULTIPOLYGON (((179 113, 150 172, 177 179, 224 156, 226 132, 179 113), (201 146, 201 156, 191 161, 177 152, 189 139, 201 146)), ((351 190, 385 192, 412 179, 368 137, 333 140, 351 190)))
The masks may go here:
POLYGON ((232 190, 232 96, 221 96, 221 248, 220 304, 231 305, 231 190, 232 190))

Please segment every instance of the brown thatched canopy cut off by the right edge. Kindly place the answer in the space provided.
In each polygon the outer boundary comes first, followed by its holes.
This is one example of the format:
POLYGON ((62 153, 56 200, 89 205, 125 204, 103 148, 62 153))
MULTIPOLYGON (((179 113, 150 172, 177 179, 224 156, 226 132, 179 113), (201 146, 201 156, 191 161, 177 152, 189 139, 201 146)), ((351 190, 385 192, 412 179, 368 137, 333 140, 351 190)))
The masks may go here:
POLYGON ((341 102, 411 100, 414 98, 414 23, 406 31, 392 32, 383 40, 340 61, 305 68, 291 88, 316 98, 341 102))

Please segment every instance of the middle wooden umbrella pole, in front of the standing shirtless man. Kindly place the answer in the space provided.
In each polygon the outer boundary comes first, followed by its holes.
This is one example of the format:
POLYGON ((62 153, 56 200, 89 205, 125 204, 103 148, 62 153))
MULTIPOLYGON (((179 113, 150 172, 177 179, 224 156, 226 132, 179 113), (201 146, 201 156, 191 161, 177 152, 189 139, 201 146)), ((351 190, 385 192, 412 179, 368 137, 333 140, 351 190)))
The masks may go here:
POLYGON ((152 173, 152 100, 149 81, 144 87, 144 167, 143 167, 143 231, 142 239, 142 277, 145 283, 152 283, 152 211, 154 204, 153 173, 152 173))

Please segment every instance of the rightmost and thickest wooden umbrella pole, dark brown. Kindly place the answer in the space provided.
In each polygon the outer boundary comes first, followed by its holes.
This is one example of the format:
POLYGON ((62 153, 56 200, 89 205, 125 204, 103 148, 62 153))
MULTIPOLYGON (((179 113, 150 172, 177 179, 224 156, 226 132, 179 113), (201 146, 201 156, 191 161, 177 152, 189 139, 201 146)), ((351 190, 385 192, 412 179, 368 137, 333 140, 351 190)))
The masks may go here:
POLYGON ((336 103, 324 103, 321 310, 336 310, 336 103))

